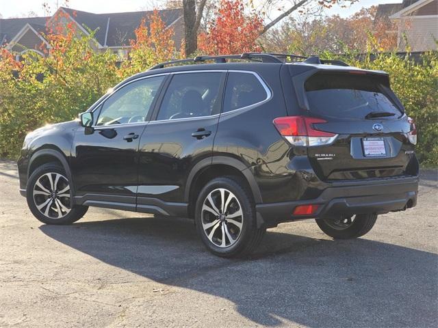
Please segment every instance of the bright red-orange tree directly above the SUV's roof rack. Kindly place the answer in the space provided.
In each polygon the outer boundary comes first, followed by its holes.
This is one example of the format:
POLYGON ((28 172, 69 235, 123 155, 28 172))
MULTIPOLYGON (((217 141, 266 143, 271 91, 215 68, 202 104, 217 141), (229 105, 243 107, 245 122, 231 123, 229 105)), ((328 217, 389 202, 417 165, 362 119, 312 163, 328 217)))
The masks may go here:
POLYGON ((256 44, 263 29, 257 13, 245 14, 242 0, 221 0, 207 33, 198 36, 198 49, 209 55, 261 51, 256 44))

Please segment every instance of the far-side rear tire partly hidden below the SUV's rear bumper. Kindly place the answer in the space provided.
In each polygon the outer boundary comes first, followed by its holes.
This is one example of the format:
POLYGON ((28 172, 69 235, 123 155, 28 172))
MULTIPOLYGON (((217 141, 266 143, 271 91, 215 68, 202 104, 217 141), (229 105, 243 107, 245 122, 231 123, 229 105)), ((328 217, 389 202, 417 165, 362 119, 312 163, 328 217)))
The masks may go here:
POLYGON ((367 234, 376 223, 376 219, 376 214, 361 214, 350 219, 316 219, 315 221, 324 234, 332 238, 352 239, 367 234))

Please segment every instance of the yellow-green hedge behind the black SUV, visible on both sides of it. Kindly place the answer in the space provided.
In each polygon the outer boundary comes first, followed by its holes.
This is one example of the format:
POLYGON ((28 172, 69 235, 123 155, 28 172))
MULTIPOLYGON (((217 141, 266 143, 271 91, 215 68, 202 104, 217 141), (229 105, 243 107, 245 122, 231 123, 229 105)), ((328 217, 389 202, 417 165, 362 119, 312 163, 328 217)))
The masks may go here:
MULTIPOLYGON (((90 37, 56 38, 51 40, 51 55, 38 58, 29 53, 21 64, 0 49, 0 157, 16 158, 29 131, 77 118, 128 72, 140 72, 163 57, 141 46, 131 58, 138 59, 146 51, 146 64, 127 61, 118 68, 114 54, 93 51, 90 37)), ((162 48, 166 47, 172 44, 162 48)), ((172 55, 172 51, 163 53, 172 55)), ((323 57, 339 59, 329 53, 323 57)), ((438 53, 424 54, 420 63, 395 53, 370 57, 357 59, 357 54, 350 53, 343 59, 352 66, 390 74, 392 89, 417 123, 420 162, 438 166, 438 53)))

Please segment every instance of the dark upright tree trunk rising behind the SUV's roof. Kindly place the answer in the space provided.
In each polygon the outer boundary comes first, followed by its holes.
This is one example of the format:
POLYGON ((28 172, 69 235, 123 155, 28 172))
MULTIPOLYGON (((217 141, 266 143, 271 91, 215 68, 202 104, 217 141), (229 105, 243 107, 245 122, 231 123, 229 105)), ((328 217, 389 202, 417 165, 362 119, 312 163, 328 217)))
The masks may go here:
POLYGON ((198 29, 206 1, 201 0, 196 8, 196 0, 183 0, 185 55, 190 55, 198 49, 198 29))

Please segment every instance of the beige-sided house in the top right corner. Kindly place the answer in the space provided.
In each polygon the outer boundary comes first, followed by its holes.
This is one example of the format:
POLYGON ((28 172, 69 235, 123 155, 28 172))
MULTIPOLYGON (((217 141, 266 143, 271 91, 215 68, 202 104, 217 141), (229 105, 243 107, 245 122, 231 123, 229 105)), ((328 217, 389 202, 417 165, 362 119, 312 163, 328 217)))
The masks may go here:
POLYGON ((437 50, 438 0, 403 1, 400 10, 389 18, 397 23, 400 51, 407 44, 411 51, 437 50))

